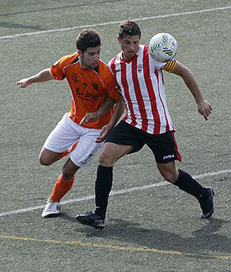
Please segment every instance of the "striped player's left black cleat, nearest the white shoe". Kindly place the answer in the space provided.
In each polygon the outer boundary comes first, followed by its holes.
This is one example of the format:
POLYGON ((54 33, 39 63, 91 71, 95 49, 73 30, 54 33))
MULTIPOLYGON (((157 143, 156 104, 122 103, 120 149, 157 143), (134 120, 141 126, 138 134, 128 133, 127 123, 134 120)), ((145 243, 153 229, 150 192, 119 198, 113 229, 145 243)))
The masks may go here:
POLYGON ((82 225, 89 225, 95 229, 103 229, 106 226, 106 220, 103 220, 94 212, 86 212, 86 215, 77 215, 75 218, 82 225))

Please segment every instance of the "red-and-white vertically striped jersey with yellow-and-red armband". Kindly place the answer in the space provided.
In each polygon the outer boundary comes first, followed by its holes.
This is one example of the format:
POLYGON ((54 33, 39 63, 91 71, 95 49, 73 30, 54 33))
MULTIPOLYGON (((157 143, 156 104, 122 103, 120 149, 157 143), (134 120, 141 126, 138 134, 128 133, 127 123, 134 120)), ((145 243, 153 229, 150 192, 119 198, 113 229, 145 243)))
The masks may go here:
POLYGON ((147 45, 140 45, 129 62, 123 58, 122 52, 108 62, 125 101, 125 122, 151 134, 174 130, 167 108, 162 69, 171 72, 175 66, 175 60, 155 62, 147 45))

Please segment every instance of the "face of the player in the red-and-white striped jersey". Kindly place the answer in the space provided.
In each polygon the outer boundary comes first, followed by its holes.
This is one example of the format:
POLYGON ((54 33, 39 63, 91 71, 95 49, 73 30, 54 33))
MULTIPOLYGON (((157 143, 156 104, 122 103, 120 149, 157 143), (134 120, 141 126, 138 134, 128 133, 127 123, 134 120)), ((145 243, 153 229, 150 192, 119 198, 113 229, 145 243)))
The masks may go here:
POLYGON ((120 43, 125 60, 132 59, 140 47, 140 37, 138 35, 126 35, 123 39, 118 36, 118 42, 120 43))

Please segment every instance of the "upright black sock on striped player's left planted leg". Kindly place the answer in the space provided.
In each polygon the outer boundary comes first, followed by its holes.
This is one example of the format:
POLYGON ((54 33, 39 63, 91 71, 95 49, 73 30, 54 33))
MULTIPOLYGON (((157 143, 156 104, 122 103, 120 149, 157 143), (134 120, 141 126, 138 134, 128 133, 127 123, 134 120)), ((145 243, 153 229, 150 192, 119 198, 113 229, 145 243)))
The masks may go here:
POLYGON ((105 219, 106 210, 108 206, 108 196, 111 192, 113 180, 113 166, 98 166, 96 183, 95 183, 95 194, 96 194, 96 215, 105 219))

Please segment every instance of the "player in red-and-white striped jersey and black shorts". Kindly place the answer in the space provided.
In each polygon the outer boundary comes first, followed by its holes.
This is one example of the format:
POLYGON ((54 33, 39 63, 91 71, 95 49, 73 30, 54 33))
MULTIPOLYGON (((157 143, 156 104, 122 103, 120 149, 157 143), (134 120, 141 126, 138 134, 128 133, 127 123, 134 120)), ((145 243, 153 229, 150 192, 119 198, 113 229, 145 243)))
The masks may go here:
POLYGON ((145 144, 152 150, 157 169, 166 181, 197 198, 201 218, 213 214, 213 188, 203 187, 186 171, 176 168, 181 161, 174 137, 164 90, 163 71, 176 74, 184 80, 198 106, 198 112, 208 120, 213 110, 198 89, 192 72, 180 62, 155 62, 147 45, 140 45, 140 27, 134 21, 120 24, 118 42, 121 52, 108 63, 123 96, 126 115, 109 133, 99 157, 96 178, 96 210, 77 215, 77 220, 95 228, 105 226, 108 196, 113 181, 113 164, 139 151, 145 144))

